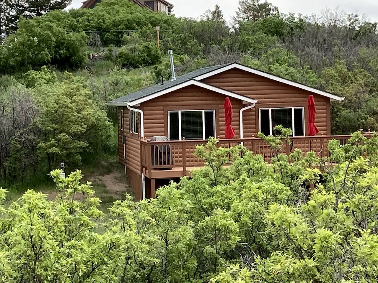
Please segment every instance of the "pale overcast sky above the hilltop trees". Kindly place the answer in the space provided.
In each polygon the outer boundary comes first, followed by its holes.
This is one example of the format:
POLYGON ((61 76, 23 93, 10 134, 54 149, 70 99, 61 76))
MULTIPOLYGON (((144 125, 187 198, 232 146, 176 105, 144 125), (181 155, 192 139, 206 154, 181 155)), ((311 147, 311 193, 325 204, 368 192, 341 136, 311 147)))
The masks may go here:
MULTIPOLYGON (((84 0, 73 0, 70 7, 78 8, 84 0)), ((208 9, 213 9, 218 3, 227 20, 231 20, 237 9, 238 0, 169 0, 175 5, 174 12, 177 16, 198 18, 208 9)), ((278 6, 279 11, 302 13, 304 15, 321 14, 322 9, 339 8, 347 13, 359 12, 366 14, 372 21, 378 21, 377 0, 268 0, 278 6)))

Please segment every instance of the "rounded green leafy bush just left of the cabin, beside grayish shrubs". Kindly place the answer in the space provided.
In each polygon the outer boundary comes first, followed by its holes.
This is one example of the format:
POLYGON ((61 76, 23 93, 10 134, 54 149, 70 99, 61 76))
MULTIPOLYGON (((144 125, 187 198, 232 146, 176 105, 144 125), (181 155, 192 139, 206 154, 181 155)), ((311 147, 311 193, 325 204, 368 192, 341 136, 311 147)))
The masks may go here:
POLYGON ((82 154, 101 152, 108 145, 112 124, 81 78, 66 73, 62 82, 36 86, 33 93, 41 109, 34 121, 42 131, 37 148, 47 156, 49 169, 60 160, 80 164, 82 154))

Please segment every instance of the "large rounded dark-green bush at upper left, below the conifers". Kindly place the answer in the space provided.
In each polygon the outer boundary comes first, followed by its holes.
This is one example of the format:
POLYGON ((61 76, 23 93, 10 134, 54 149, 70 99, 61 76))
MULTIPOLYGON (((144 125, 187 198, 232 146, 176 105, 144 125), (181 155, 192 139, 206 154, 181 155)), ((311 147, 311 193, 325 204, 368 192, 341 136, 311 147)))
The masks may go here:
POLYGON ((0 72, 27 71, 46 64, 79 68, 87 61, 86 35, 41 18, 20 20, 19 29, 0 46, 0 72))

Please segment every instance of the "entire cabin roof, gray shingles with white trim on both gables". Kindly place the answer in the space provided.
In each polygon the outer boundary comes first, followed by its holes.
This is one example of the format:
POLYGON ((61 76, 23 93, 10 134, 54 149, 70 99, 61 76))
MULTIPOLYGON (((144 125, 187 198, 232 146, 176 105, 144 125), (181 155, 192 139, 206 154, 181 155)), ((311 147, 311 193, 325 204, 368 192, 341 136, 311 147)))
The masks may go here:
POLYGON ((334 94, 330 94, 328 92, 321 91, 319 89, 311 88, 310 86, 301 85, 300 83, 296 83, 281 77, 277 77, 271 74, 268 74, 266 72, 262 72, 256 69, 252 69, 243 65, 240 65, 238 63, 230 63, 225 65, 219 65, 219 66, 212 66, 207 68, 201 68, 198 70, 195 70, 193 72, 187 73, 185 75, 182 75, 180 77, 177 77, 174 81, 169 81, 164 84, 157 84, 154 86, 151 86, 149 88, 142 89, 140 91, 134 92, 129 95, 125 95, 123 97, 117 98, 111 102, 108 102, 107 105, 109 106, 134 106, 139 103, 145 102, 147 100, 153 99, 155 97, 158 97, 160 95, 175 91, 177 89, 189 86, 189 85, 197 85, 206 89, 210 89, 215 92, 219 92, 225 95, 229 95, 231 97, 239 98, 243 101, 249 102, 249 103, 256 103, 257 100, 251 99, 249 97, 246 97, 244 95, 239 95, 235 92, 226 91, 222 88, 216 88, 215 86, 207 85, 205 83, 200 82, 200 80, 203 80, 204 78, 211 77, 216 74, 220 74, 222 72, 228 71, 230 69, 241 69, 246 72, 250 72, 252 74, 257 74, 262 77, 270 78, 271 80, 275 80, 277 82, 285 83, 290 86, 294 86, 300 89, 304 89, 306 91, 313 92, 315 94, 319 94, 325 97, 330 98, 331 100, 335 101, 342 101, 344 100, 344 97, 339 97, 334 94))

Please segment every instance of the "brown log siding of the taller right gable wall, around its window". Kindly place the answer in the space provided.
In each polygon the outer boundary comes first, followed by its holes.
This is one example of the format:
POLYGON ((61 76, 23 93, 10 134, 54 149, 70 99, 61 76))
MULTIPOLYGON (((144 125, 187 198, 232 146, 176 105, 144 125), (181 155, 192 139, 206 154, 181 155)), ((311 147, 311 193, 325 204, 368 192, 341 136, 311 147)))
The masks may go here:
MULTIPOLYGON (((312 92, 288 86, 284 83, 239 69, 222 72, 221 74, 205 78, 202 82, 258 100, 255 108, 244 112, 245 138, 253 137, 253 135, 259 132, 259 108, 304 107, 305 131, 307 134, 307 99, 308 95, 313 94, 312 92)), ((313 95, 317 111, 315 125, 319 128, 320 133, 330 135, 330 99, 318 94, 313 95)))

